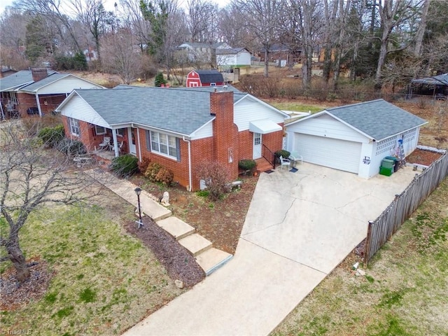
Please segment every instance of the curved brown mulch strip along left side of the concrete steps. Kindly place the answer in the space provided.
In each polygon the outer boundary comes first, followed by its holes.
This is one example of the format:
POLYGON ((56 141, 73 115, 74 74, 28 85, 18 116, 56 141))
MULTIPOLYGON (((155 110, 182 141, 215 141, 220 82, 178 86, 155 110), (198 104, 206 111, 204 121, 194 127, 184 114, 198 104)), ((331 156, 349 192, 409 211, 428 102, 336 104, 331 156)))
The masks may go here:
POLYGON ((150 248, 159 262, 167 269, 169 277, 173 280, 183 281, 188 288, 205 278, 204 270, 197 264, 193 255, 181 246, 174 237, 160 228, 151 218, 142 218, 143 226, 137 228, 137 223, 125 224, 125 229, 140 239, 150 248))

